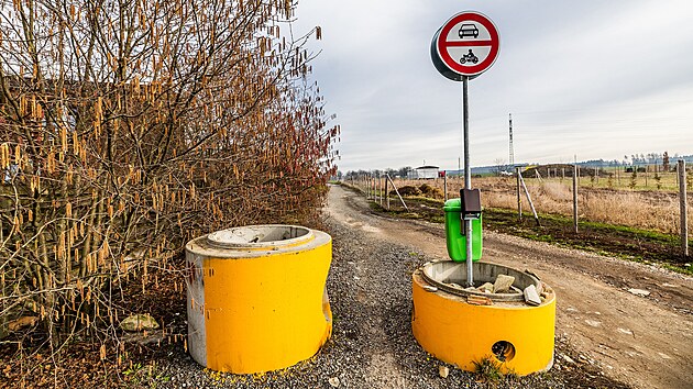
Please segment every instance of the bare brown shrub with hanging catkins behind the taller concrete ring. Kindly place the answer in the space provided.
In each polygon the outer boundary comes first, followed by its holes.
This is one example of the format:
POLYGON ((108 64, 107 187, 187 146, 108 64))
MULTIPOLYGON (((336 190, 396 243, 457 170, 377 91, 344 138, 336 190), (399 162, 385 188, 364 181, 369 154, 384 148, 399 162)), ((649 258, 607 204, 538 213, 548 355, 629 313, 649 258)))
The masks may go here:
POLYGON ((339 130, 294 5, 0 4, 0 318, 108 337, 188 240, 315 220, 339 130))

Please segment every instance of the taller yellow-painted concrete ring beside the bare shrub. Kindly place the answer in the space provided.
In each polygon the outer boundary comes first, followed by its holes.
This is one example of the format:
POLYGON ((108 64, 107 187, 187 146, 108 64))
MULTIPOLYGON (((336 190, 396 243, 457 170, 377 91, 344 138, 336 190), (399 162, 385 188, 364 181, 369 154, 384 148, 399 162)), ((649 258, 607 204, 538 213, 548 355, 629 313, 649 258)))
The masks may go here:
POLYGON ((219 231, 186 245, 188 349, 218 371, 253 374, 315 355, 330 337, 330 235, 295 225, 219 231))

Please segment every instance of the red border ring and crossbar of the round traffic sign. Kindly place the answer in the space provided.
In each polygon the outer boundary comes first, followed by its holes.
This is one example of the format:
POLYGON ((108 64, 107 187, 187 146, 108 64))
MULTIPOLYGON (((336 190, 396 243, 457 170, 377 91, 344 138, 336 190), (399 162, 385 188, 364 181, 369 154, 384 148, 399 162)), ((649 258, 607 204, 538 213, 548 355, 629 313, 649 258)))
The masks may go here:
POLYGON ((496 30, 496 26, 493 24, 493 22, 488 18, 476 12, 462 12, 452 16, 452 19, 450 19, 448 23, 446 23, 446 25, 443 25, 443 27, 441 29, 440 34, 438 35, 438 38, 436 42, 438 56, 443 62, 443 64, 446 64, 446 66, 450 68, 450 70, 458 73, 462 76, 475 76, 488 69, 491 65, 493 65, 493 63, 496 60, 496 57, 498 56, 499 45, 501 45, 501 41, 498 38, 498 30, 496 30), (491 40, 466 41, 466 42, 447 41, 450 30, 452 30, 452 27, 454 27, 458 23, 462 21, 472 21, 472 22, 481 23, 488 31, 488 34, 491 35, 491 40), (454 58, 452 58, 450 54, 448 54, 448 51, 446 48, 451 47, 451 46, 491 46, 491 52, 488 53, 488 56, 484 60, 479 63, 477 65, 462 66, 454 58))

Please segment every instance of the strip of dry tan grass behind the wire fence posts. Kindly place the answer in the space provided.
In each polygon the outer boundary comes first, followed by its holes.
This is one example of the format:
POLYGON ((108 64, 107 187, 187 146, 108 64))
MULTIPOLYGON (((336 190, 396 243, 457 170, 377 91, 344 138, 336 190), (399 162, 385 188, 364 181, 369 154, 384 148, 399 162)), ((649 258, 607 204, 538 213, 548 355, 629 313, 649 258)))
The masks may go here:
MULTIPOLYGON (((622 178, 623 179, 623 178, 622 178)), ((395 180, 397 187, 421 186, 422 182, 442 189, 443 179, 395 180)), ((463 179, 448 178, 448 198, 459 196, 463 179)), ((514 177, 474 178, 472 184, 482 189, 484 207, 517 209, 517 192, 514 177)), ((572 181, 526 179, 527 188, 537 212, 572 215, 572 181)), ((679 199, 671 191, 635 191, 629 189, 605 189, 591 187, 588 179, 582 180, 579 189, 579 213, 583 221, 627 225, 656 230, 663 233, 679 232, 679 199)), ((689 230, 693 230, 693 193, 689 192, 689 230)), ((529 211, 527 199, 522 194, 522 209, 529 211)))

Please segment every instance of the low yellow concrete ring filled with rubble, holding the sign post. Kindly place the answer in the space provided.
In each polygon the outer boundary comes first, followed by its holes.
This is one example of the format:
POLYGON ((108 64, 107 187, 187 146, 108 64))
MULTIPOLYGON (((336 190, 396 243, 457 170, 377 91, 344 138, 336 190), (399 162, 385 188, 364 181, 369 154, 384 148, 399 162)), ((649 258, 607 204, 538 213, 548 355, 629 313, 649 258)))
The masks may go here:
MULTIPOLYGON (((515 277, 513 286, 519 289, 539 285, 527 273, 473 264, 475 285, 494 282, 499 274, 515 277)), ((495 360, 504 373, 520 376, 550 369, 556 327, 553 291, 544 286, 546 294, 537 307, 526 304, 521 293, 491 294, 490 305, 477 305, 468 302, 474 300, 468 300, 470 296, 490 294, 464 290, 465 284, 465 263, 428 263, 414 273, 411 329, 424 349, 469 371, 484 358, 495 360)))

